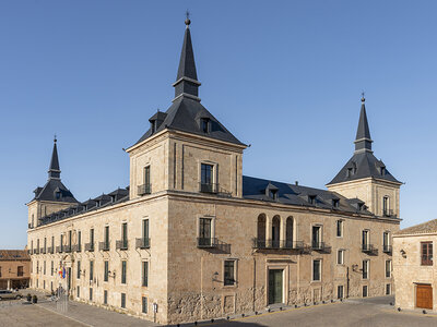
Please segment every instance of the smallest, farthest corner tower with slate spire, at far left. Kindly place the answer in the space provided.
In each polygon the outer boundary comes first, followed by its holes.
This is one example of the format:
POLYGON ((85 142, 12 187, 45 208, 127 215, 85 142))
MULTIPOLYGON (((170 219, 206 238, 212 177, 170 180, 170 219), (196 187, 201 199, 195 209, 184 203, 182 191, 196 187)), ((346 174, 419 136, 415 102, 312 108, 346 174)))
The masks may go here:
POLYGON ((56 137, 48 168, 48 181, 43 187, 36 187, 34 193, 34 198, 27 204, 28 228, 38 227, 39 218, 78 203, 70 190, 61 182, 56 137))

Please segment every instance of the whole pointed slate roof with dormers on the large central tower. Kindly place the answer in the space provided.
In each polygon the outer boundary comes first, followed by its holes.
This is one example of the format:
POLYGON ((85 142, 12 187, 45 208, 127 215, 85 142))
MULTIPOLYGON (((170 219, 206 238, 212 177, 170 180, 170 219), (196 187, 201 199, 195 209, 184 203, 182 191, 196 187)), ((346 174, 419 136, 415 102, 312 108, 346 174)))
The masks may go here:
POLYGON ((185 21, 186 29, 177 81, 173 84, 176 97, 166 112, 158 111, 149 119, 151 128, 134 145, 168 129, 246 146, 200 104, 198 97, 200 83, 197 81, 190 23, 189 19, 185 21))

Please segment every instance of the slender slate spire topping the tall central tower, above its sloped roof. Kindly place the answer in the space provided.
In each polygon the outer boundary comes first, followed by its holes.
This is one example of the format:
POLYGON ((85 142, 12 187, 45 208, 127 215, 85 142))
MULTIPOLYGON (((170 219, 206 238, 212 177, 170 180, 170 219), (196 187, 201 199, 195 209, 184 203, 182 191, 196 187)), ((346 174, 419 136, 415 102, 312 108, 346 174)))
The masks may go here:
POLYGON ((179 68, 177 72, 175 87, 175 100, 181 96, 200 101, 198 74, 196 72, 194 52, 192 51, 190 27, 191 21, 185 21, 187 28, 185 29, 182 51, 180 52, 179 68))

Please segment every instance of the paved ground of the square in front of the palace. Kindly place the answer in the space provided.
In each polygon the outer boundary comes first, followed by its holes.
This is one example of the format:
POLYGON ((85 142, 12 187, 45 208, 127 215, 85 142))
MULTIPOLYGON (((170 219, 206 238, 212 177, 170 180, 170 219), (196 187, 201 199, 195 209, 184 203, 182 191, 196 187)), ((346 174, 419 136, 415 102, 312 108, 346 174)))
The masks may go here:
MULTIPOLYGON (((39 299, 44 298, 40 296, 39 299)), ((0 327, 156 326, 146 320, 76 302, 69 303, 69 310, 66 314, 58 313, 56 304, 49 301, 39 301, 37 305, 23 304, 24 302, 0 302, 0 327)), ((390 302, 393 302, 392 296, 347 300, 343 303, 284 308, 283 311, 276 308, 272 313, 236 317, 229 322, 202 323, 198 326, 437 326, 437 315, 424 315, 420 312, 398 312, 390 305, 390 302)), ((184 324, 184 326, 193 326, 193 324, 184 324)))

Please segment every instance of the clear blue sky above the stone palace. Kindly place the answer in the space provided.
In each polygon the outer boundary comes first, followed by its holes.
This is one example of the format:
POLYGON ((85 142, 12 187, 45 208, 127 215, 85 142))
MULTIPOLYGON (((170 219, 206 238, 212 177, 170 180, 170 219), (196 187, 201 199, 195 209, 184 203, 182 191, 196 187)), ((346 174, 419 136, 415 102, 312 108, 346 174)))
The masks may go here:
POLYGON ((436 1, 0 1, 0 249, 26 243, 52 148, 79 201, 129 183, 123 147, 174 97, 185 11, 202 104, 244 173, 324 187, 353 154, 359 97, 401 189, 437 218, 436 1))

